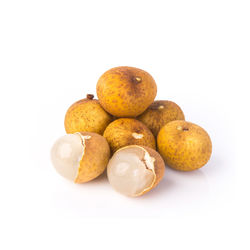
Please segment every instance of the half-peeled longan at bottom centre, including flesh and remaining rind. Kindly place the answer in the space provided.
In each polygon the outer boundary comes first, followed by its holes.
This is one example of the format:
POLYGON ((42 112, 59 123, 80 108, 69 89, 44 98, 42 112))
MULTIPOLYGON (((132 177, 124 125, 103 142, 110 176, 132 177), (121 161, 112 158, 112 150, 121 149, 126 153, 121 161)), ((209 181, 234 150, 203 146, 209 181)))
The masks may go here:
POLYGON ((163 178, 161 156, 145 146, 130 145, 115 152, 107 167, 112 187, 128 196, 140 196, 153 189, 163 178))

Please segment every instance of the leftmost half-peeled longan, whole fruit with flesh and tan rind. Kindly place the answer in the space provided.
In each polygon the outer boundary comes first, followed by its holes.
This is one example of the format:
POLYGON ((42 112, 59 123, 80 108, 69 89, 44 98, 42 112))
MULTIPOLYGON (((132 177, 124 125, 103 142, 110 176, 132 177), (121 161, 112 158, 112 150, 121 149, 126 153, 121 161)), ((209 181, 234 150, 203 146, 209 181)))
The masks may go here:
POLYGON ((98 177, 106 169, 109 158, 106 139, 91 132, 64 135, 51 149, 51 160, 57 172, 75 183, 98 177))

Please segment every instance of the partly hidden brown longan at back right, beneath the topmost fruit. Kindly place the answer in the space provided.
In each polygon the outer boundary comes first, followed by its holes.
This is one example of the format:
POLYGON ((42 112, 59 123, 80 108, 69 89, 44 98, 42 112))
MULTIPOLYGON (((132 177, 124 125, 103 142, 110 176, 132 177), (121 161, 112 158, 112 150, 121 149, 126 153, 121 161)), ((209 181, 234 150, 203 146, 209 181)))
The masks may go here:
POLYGON ((160 129, 168 122, 185 120, 181 108, 171 101, 154 101, 137 119, 143 122, 157 137, 160 129))

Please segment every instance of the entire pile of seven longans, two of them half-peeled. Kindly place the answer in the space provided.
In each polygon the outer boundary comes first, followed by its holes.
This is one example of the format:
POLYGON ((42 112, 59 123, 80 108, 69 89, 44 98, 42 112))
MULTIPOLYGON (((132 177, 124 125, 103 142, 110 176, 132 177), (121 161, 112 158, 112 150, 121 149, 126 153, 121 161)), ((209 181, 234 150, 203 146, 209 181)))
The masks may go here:
POLYGON ((140 196, 163 178, 165 163, 176 170, 204 166, 212 153, 207 132, 185 121, 171 101, 154 101, 153 77, 138 68, 116 67, 65 115, 66 135, 52 147, 59 174, 84 183, 107 167, 110 184, 128 196, 140 196), (157 149, 157 151, 156 151, 157 149))

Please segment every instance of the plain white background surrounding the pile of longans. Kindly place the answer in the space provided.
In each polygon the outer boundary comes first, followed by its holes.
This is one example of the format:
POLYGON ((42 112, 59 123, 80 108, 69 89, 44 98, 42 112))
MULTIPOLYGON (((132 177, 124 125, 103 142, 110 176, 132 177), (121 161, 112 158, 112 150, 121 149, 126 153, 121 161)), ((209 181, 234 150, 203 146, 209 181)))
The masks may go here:
POLYGON ((0 248, 249 249, 249 13, 241 0, 0 1, 0 248), (121 65, 213 141, 204 168, 166 168, 136 199, 105 176, 64 180, 49 155, 67 108, 121 65))

